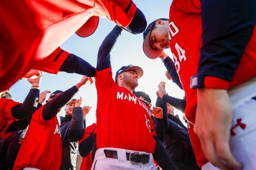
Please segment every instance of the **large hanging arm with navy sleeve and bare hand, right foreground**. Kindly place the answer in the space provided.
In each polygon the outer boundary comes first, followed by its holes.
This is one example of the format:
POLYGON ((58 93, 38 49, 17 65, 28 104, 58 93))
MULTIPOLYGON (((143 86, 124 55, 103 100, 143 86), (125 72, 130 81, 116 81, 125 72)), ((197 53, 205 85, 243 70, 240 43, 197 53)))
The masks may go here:
POLYGON ((202 1, 203 43, 197 83, 192 78, 192 87, 200 88, 195 132, 206 158, 220 169, 242 168, 229 147, 232 108, 227 90, 255 27, 255 5, 252 0, 202 1))

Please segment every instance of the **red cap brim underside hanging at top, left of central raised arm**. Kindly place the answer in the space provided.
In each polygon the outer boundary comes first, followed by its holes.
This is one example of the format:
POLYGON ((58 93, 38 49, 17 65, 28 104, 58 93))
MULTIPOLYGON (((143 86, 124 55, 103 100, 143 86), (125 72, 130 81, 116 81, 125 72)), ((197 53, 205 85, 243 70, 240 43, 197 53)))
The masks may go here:
POLYGON ((76 31, 76 35, 80 37, 88 37, 92 35, 96 31, 99 21, 100 18, 98 16, 92 16, 81 28, 79 28, 79 30, 76 31))

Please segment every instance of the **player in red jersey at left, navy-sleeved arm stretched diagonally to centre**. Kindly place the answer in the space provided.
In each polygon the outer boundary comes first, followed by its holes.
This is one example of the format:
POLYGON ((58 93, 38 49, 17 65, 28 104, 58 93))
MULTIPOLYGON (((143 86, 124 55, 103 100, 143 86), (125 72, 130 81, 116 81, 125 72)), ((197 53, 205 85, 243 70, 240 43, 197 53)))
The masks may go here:
POLYGON ((36 110, 13 169, 60 169, 62 148, 56 114, 87 80, 88 77, 83 76, 79 83, 68 90, 53 92, 48 102, 36 110))

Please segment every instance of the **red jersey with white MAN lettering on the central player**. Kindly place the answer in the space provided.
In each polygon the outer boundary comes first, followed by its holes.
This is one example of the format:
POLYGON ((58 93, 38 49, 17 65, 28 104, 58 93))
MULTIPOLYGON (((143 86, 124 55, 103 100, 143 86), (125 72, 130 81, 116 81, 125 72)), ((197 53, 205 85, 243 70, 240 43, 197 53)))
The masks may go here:
POLYGON ((112 68, 96 71, 97 148, 114 147, 154 154, 151 111, 132 92, 118 86, 112 68))

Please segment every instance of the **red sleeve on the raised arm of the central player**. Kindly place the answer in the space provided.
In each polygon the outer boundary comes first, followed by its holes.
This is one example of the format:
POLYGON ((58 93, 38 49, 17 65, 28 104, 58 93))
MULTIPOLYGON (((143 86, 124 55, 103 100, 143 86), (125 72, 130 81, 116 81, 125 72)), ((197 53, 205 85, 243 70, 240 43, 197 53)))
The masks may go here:
POLYGON ((95 84, 97 91, 101 92, 112 88, 112 86, 115 84, 112 78, 112 67, 101 71, 96 70, 95 84))

